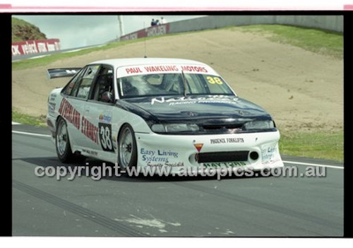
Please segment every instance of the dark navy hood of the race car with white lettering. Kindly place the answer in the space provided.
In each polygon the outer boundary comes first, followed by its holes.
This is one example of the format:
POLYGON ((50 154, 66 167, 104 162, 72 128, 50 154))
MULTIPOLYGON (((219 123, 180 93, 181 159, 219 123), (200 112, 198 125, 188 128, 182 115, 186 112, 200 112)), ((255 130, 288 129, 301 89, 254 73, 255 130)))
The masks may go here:
MULTIPOLYGON (((271 119, 270 114, 248 100, 228 95, 153 97, 118 100, 117 105, 155 122, 244 122, 271 119)), ((207 122, 207 123, 206 123, 207 122)))

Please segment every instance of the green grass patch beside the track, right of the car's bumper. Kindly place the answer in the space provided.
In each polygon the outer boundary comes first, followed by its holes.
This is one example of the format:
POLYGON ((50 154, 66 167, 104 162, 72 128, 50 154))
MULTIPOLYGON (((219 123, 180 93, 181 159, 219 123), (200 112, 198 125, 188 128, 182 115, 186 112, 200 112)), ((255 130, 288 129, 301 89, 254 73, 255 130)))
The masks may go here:
POLYGON ((281 132, 280 153, 343 162, 343 131, 281 132))

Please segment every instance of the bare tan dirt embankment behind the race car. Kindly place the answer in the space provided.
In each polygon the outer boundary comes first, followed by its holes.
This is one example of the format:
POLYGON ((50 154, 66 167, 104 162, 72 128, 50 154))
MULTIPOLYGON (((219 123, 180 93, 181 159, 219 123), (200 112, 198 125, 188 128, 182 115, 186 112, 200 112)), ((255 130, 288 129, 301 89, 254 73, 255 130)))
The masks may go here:
MULTIPOLYGON (((161 37, 148 40, 146 45, 148 57, 195 59, 210 64, 239 97, 270 112, 280 129, 343 127, 342 59, 234 30, 161 37)), ((49 81, 48 68, 83 66, 99 59, 143 57, 144 51, 141 41, 35 69, 13 71, 13 107, 32 115, 46 114, 49 92, 68 81, 49 81)))

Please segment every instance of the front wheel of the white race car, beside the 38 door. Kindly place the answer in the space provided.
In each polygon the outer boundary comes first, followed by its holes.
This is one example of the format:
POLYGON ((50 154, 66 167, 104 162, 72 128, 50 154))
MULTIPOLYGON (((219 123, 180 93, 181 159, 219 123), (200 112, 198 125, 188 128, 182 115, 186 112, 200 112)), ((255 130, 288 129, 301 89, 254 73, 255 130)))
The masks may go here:
POLYGON ((129 124, 124 124, 118 138, 118 163, 121 170, 137 165, 137 145, 135 132, 129 124))

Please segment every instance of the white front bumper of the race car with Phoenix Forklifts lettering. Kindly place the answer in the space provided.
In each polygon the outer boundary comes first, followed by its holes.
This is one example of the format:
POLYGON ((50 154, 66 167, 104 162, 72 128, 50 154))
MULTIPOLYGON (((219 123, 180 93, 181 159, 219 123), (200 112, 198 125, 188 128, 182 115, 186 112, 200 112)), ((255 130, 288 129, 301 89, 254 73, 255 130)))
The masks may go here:
POLYGON ((138 167, 264 170, 283 167, 279 131, 217 135, 136 133, 138 167))

